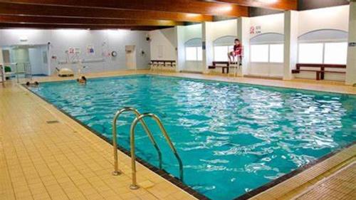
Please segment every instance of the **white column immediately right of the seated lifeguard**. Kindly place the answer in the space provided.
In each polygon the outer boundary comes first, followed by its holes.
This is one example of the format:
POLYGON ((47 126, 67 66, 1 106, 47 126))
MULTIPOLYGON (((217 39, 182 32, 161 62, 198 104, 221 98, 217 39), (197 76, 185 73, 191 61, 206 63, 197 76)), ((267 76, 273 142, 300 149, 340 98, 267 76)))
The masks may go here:
POLYGON ((239 38, 244 48, 241 75, 246 75, 250 65, 250 19, 248 17, 239 17, 237 19, 237 38, 239 38))

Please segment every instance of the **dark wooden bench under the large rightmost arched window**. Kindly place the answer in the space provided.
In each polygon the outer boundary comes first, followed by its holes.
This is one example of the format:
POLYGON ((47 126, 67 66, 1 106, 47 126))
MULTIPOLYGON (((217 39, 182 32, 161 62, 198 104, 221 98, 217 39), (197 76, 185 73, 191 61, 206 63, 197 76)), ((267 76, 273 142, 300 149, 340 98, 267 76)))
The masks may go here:
POLYGON ((325 73, 342 73, 342 74, 346 73, 345 71, 325 70, 325 68, 346 69, 346 65, 298 63, 296 65, 295 70, 292 70, 292 73, 315 72, 316 80, 324 80, 325 73), (316 68, 316 69, 310 70, 310 69, 302 69, 302 68, 316 68))

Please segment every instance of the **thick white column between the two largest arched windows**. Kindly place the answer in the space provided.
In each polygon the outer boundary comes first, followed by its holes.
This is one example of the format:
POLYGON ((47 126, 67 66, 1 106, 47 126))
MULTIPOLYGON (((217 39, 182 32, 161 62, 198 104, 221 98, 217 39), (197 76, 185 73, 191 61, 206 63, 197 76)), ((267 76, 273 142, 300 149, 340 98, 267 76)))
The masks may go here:
POLYGON ((292 70, 298 61, 298 11, 284 12, 283 80, 293 79, 292 70))

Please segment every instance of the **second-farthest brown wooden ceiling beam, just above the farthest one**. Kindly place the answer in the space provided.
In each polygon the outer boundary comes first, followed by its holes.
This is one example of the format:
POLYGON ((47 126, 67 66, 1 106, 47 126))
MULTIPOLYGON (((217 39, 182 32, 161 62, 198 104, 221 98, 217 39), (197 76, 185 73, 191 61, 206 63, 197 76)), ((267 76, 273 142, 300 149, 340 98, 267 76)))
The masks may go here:
POLYGON ((182 26, 183 22, 166 20, 129 20, 129 19, 89 19, 43 16, 12 16, 0 14, 0 23, 50 23, 50 24, 90 24, 90 25, 125 25, 125 26, 182 26))

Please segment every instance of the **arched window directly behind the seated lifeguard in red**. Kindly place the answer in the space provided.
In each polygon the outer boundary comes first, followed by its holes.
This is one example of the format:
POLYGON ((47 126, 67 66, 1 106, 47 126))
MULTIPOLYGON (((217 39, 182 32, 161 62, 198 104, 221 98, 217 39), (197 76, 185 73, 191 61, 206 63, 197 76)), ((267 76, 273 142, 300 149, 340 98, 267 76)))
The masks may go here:
POLYGON ((217 38, 214 44, 214 61, 227 61, 227 53, 234 50, 236 36, 223 36, 217 38))

